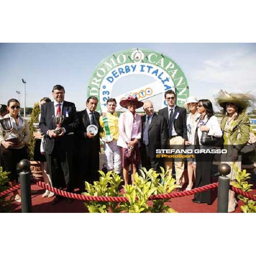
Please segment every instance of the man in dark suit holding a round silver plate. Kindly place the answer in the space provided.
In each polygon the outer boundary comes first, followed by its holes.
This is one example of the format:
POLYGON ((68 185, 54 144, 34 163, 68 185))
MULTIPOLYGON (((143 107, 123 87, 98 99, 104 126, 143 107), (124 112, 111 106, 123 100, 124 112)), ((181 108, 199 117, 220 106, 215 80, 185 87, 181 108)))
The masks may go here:
POLYGON ((84 181, 93 183, 99 180, 99 112, 96 112, 98 99, 90 96, 86 109, 78 112, 79 128, 76 131, 77 157, 79 161, 79 189, 84 192, 84 181), (87 132, 88 125, 96 125, 98 133, 87 132))

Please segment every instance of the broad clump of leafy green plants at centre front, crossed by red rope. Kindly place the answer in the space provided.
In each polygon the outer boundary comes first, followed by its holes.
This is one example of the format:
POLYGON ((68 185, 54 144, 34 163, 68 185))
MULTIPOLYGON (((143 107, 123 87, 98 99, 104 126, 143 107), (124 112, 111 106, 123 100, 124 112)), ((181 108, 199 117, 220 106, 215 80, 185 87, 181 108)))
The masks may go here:
POLYGON ((158 174, 153 169, 147 171, 145 168, 140 170, 141 175, 134 175, 134 184, 125 185, 124 194, 119 192, 119 185, 123 181, 119 175, 110 171, 101 174, 100 180, 92 184, 85 183, 87 192, 85 195, 104 195, 104 196, 123 196, 128 198, 128 202, 94 202, 85 203, 89 212, 175 212, 165 203, 169 199, 159 199, 149 201, 151 195, 170 193, 175 189, 175 179, 169 176, 164 169, 158 174))

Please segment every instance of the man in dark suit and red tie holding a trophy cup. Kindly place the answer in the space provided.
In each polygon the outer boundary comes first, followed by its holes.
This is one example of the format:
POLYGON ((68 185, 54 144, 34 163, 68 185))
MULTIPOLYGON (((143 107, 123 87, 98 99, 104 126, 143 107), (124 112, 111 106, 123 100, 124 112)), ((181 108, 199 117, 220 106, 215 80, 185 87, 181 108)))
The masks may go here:
MULTIPOLYGON (((79 126, 76 106, 72 102, 64 101, 65 90, 61 85, 52 89, 53 102, 41 106, 39 126, 46 136, 45 153, 52 178, 52 186, 62 188, 64 175, 68 192, 73 192, 73 151, 75 147, 74 131, 79 126), (55 132, 56 125, 52 116, 64 116, 60 134, 55 132)), ((61 197, 56 195, 53 201, 58 203, 61 197)), ((69 198, 67 201, 70 202, 69 198)))

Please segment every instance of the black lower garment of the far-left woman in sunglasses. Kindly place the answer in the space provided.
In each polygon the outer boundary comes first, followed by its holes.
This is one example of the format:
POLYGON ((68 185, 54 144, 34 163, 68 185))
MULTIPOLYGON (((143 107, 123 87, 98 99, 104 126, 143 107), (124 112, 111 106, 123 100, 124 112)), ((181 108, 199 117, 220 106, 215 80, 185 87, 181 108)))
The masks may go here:
POLYGON ((28 159, 27 146, 23 148, 4 148, 1 147, 1 166, 4 172, 10 172, 8 174, 9 181, 17 181, 17 164, 23 160, 28 159))

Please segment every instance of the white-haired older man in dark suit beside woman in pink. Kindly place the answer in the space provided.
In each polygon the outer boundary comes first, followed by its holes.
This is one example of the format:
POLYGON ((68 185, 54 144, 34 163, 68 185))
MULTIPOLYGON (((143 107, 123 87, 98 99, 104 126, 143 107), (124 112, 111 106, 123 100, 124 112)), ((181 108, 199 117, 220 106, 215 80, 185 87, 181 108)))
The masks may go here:
POLYGON ((144 102, 143 108, 146 114, 142 116, 142 166, 160 172, 160 166, 164 167, 163 159, 156 157, 155 150, 164 149, 168 144, 166 119, 154 113, 154 106, 149 100, 144 102))

